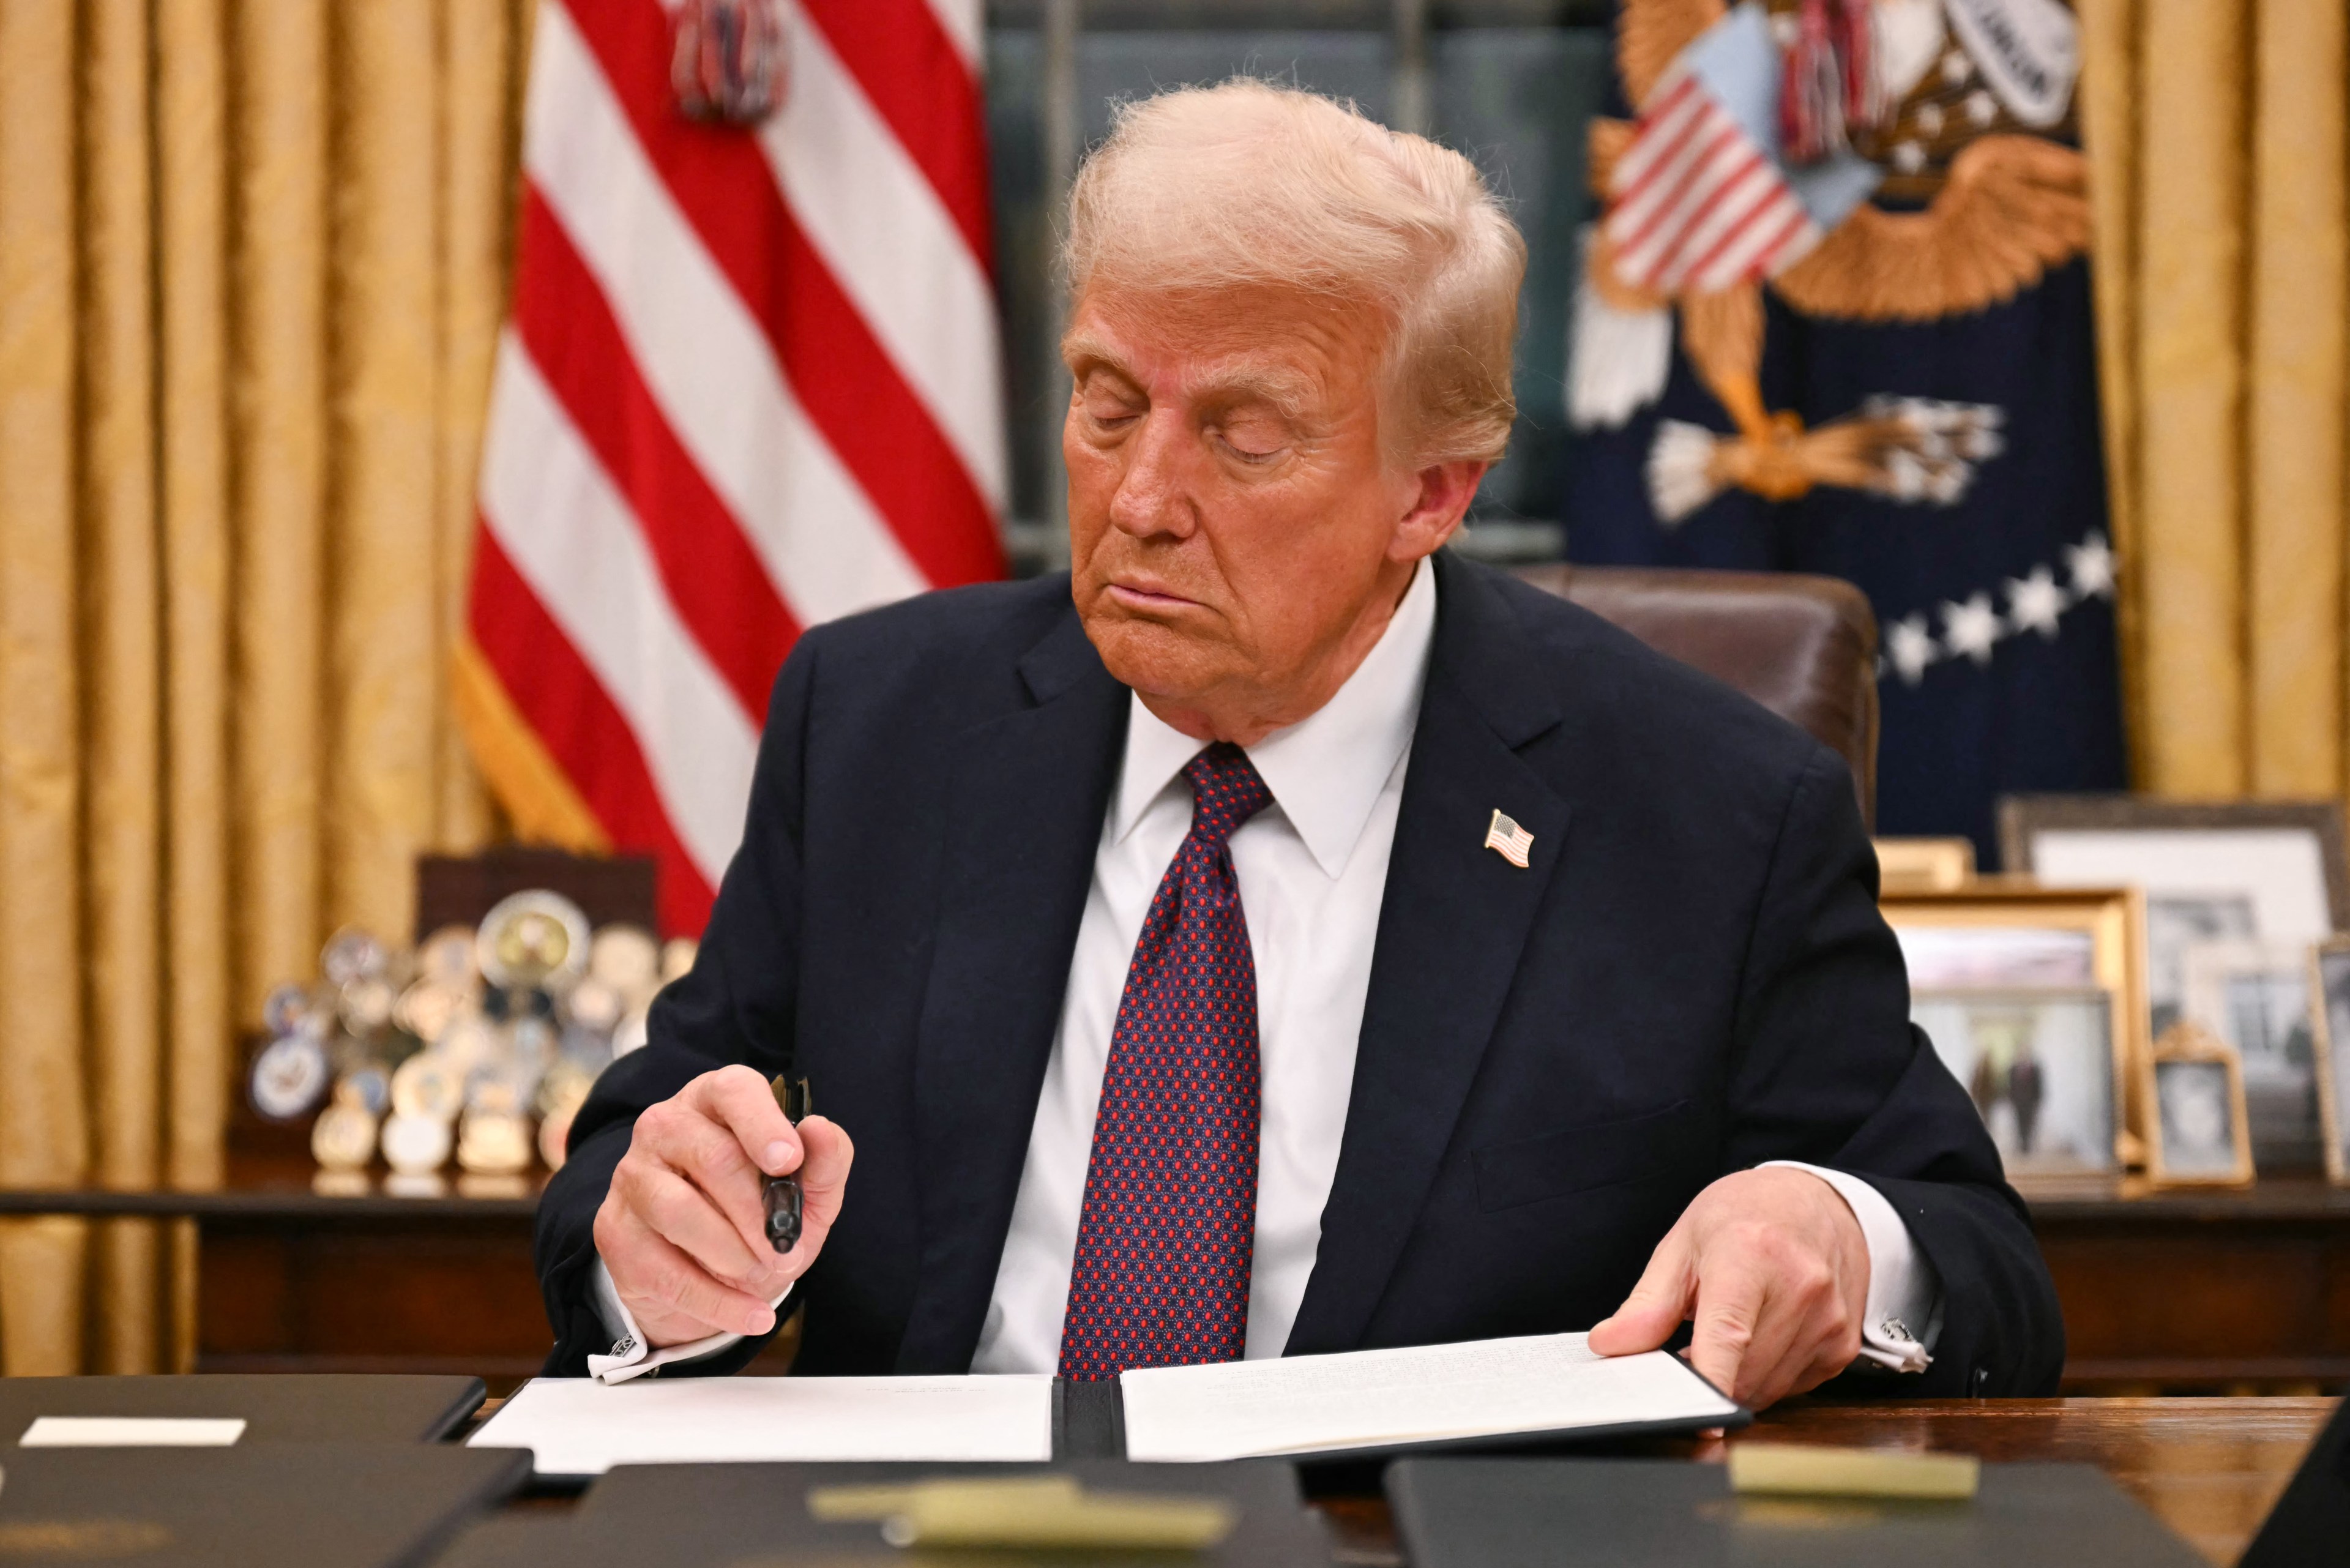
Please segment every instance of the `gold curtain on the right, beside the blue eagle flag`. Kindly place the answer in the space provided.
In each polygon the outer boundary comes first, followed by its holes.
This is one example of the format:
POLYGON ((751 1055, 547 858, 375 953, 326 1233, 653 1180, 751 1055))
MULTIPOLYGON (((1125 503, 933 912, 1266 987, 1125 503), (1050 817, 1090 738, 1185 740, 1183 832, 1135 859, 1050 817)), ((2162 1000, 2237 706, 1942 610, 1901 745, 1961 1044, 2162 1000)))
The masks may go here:
POLYGON ((2080 19, 2136 780, 2350 792, 2350 16, 2080 19))

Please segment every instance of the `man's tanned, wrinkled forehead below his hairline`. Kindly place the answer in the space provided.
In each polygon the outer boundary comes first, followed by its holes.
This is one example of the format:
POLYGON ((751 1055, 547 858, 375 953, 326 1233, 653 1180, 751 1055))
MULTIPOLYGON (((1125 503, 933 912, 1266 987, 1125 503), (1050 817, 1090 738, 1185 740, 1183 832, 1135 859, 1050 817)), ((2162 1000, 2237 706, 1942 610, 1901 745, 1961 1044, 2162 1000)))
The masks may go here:
POLYGON ((1278 287, 1121 289, 1095 282, 1069 313, 1062 357, 1161 397, 1262 395, 1292 411, 1377 400, 1377 310, 1278 287))

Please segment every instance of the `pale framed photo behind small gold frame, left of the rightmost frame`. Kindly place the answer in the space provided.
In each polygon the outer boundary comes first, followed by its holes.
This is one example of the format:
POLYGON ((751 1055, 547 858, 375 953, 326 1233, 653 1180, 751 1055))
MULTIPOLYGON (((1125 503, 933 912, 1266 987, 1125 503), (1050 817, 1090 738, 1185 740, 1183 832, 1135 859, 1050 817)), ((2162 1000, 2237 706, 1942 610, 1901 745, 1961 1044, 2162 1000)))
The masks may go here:
POLYGON ((2263 1171, 2317 1168, 2317 1020, 2308 943, 2190 943, 2181 950, 2186 1016, 2237 1058, 2251 1157, 2263 1171))

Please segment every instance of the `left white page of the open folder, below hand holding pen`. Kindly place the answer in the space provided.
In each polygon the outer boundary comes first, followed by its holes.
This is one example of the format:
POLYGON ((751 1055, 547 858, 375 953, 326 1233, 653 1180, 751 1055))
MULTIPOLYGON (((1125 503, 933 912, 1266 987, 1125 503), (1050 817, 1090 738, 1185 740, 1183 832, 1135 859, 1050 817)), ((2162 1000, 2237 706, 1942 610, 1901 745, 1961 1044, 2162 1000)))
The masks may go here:
POLYGON ((543 1476, 750 1460, 1050 1460, 1050 1378, 538 1378, 472 1448, 529 1448, 543 1476))

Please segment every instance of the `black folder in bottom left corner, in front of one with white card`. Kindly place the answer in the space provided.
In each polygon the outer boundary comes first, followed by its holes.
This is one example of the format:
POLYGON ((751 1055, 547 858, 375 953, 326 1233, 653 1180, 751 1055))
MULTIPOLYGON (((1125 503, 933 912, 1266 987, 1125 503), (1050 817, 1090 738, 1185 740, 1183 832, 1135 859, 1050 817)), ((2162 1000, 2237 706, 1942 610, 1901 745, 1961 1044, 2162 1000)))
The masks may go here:
POLYGON ((0 1561, 414 1568, 529 1474, 442 1443, 9 1448, 0 1561))

